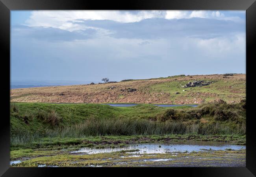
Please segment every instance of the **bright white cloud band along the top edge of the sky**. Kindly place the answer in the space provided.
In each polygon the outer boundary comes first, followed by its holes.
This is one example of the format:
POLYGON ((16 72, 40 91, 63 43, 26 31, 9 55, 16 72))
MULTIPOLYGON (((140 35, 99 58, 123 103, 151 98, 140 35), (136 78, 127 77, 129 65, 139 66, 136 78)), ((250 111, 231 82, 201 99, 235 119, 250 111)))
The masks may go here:
MULTIPOLYGON (((238 11, 240 12, 240 11, 238 11)), ((121 23, 139 22, 148 18, 213 18, 222 20, 240 21, 245 18, 236 14, 229 14, 226 11, 117 11, 117 10, 83 10, 83 11, 32 11, 31 16, 26 20, 27 26, 45 26, 60 28, 62 30, 80 30, 80 26, 70 23, 76 19, 83 20, 112 20, 121 23), (224 13, 227 15, 224 15, 224 13)), ((245 13, 244 13, 245 14, 245 13)))

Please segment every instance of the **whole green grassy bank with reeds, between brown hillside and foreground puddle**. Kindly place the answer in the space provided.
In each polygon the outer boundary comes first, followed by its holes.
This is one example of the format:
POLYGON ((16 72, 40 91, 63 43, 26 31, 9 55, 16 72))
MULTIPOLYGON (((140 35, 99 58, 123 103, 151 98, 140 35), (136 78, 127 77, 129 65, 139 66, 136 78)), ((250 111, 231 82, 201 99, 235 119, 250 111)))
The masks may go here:
MULTIPOLYGON (((42 138, 137 135, 245 135, 246 102, 198 107, 111 107, 99 104, 11 103, 11 144, 42 138)), ((49 139, 50 141, 50 139, 49 139)))

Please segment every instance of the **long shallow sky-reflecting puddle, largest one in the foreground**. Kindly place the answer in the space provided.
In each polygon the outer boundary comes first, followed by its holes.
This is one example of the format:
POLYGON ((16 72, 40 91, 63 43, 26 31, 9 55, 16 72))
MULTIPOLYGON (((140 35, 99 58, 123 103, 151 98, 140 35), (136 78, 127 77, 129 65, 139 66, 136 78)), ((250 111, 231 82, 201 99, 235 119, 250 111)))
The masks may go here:
POLYGON ((172 153, 172 152, 192 152, 192 151, 209 151, 209 150, 239 150, 246 148, 245 145, 233 145, 224 142, 204 142, 204 141, 186 141, 186 142, 164 142, 164 143, 148 143, 148 144, 132 144, 126 147, 91 149, 88 147, 73 151, 71 153, 110 153, 122 150, 136 150, 139 151, 127 152, 130 154, 150 154, 150 153, 172 153), (159 147, 161 145, 161 147, 159 147))

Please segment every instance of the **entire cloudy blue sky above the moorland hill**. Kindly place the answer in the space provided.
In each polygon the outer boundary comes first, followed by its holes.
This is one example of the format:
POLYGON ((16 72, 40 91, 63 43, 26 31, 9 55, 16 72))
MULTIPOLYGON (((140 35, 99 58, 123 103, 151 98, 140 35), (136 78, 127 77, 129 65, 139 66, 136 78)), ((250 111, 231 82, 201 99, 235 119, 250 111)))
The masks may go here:
POLYGON ((245 11, 11 11, 11 81, 245 73, 245 29, 245 11))

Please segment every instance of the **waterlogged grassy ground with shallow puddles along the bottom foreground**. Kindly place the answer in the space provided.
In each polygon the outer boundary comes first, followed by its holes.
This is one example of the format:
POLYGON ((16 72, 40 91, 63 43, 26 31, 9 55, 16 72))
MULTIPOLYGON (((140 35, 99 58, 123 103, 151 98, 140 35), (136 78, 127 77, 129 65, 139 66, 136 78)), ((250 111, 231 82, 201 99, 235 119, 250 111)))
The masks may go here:
POLYGON ((54 157, 45 155, 43 159, 25 157, 10 161, 10 166, 15 166, 12 164, 17 166, 21 162, 28 164, 37 162, 38 167, 62 166, 45 164, 52 161, 67 164, 84 163, 87 164, 86 167, 102 167, 102 164, 115 164, 121 167, 242 167, 246 165, 246 146, 225 142, 195 140, 154 142, 103 149, 85 147, 77 151, 63 152, 61 155, 53 155, 54 157))

